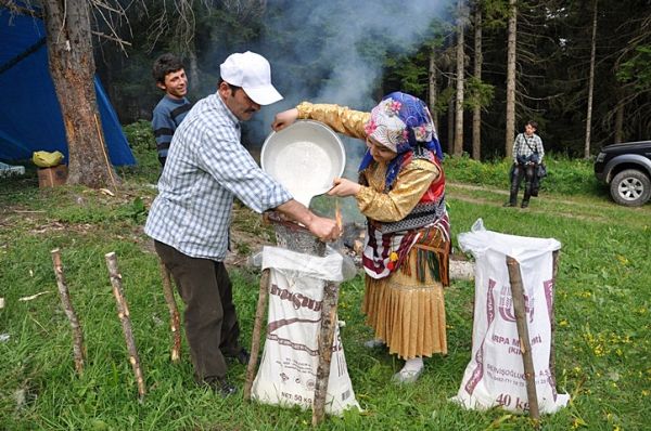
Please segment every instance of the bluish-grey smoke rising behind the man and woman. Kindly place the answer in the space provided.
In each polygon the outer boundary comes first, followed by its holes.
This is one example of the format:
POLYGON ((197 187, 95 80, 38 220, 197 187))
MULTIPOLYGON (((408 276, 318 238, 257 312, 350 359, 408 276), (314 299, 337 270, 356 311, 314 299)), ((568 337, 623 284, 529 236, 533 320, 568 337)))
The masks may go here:
MULTIPOLYGON (((386 55, 413 53, 432 23, 447 16, 451 0, 276 0, 267 2, 258 52, 284 100, 264 107, 245 125, 247 146, 261 146, 273 116, 302 101, 370 110, 382 97, 386 55)), ((220 47, 224 49, 225 47, 220 47)), ((235 52, 235 51, 231 51, 235 52)), ((226 57, 229 53, 225 53, 226 57)), ((220 63, 220 62, 219 62, 220 63)), ((399 89, 392 89, 392 91, 399 89)), ((356 179, 365 145, 345 140, 346 177, 356 179)))

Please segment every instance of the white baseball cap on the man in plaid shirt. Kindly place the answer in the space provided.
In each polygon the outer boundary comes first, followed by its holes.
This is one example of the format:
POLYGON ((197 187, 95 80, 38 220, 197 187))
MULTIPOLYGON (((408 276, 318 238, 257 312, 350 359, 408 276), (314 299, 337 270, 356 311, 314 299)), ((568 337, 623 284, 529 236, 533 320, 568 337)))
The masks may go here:
POLYGON ((271 84, 271 66, 267 58, 255 52, 234 53, 219 66, 221 79, 241 87, 258 105, 270 105, 282 100, 271 84))

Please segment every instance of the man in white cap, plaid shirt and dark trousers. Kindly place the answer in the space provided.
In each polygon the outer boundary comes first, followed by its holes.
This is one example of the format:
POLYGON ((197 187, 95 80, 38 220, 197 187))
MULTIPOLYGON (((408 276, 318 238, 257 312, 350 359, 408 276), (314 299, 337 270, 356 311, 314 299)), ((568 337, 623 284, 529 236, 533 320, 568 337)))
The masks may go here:
POLYGON ((250 51, 235 53, 220 71, 217 93, 199 101, 174 134, 144 232, 186 303, 195 378, 226 396, 235 388, 226 379, 225 356, 248 361, 224 265, 233 198, 258 213, 276 209, 322 240, 334 240, 340 230, 294 200, 240 143, 240 121, 282 99, 269 62, 250 51))

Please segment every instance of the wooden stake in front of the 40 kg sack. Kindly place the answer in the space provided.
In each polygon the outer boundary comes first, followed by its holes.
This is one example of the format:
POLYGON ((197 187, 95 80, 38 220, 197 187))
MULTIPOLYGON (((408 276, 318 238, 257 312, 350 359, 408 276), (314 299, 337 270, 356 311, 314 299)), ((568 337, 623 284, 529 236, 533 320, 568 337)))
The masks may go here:
POLYGON ((534 369, 534 358, 532 356, 532 345, 529 342, 528 327, 526 324, 524 287, 522 285, 522 275, 520 274, 520 263, 518 263, 518 261, 510 256, 507 256, 507 266, 509 269, 511 298, 513 300, 515 324, 518 325, 518 336, 520 337, 520 351, 522 352, 522 363, 524 365, 524 378, 526 381, 526 396, 528 399, 529 416, 534 420, 537 429, 540 421, 540 412, 538 410, 536 373, 534 369))

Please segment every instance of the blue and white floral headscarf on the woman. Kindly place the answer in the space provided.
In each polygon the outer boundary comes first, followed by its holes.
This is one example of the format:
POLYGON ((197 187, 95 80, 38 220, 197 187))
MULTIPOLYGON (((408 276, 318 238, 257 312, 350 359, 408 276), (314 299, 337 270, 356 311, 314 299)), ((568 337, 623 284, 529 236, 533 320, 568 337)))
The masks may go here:
MULTIPOLYGON (((366 123, 368 136, 396 152, 386 170, 386 190, 395 181, 403 161, 411 155, 416 147, 423 147, 443 160, 443 151, 434 129, 430 109, 423 101, 411 94, 398 91, 387 94, 371 110, 371 118, 366 123)), ((373 160, 370 151, 365 154, 359 171, 366 169, 373 160)))

